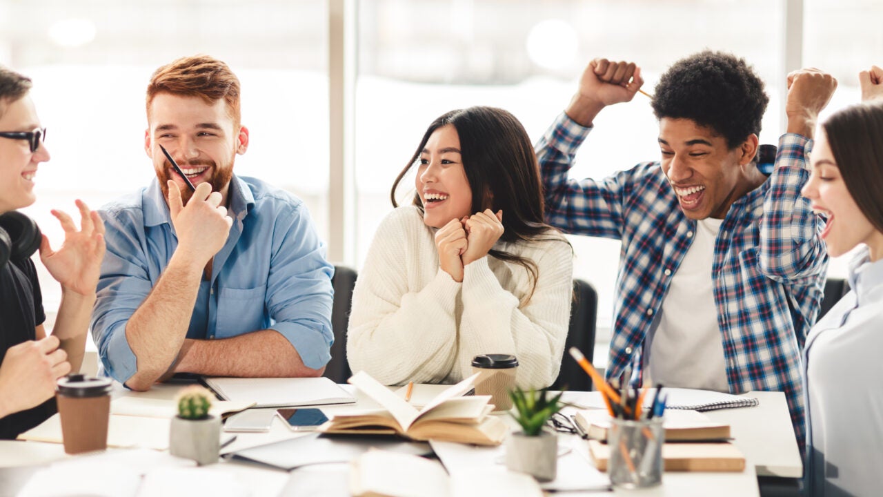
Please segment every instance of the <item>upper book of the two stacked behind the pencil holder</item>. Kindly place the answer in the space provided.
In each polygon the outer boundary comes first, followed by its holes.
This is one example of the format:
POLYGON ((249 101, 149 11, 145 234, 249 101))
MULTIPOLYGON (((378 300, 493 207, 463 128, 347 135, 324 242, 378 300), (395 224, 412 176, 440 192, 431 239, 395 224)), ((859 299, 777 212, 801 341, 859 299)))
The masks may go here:
MULTIPOLYGON (((607 440, 610 429, 607 409, 581 409, 574 420, 590 439, 607 440)), ((729 439, 729 424, 716 423, 695 410, 667 410, 662 426, 666 441, 729 439)))

